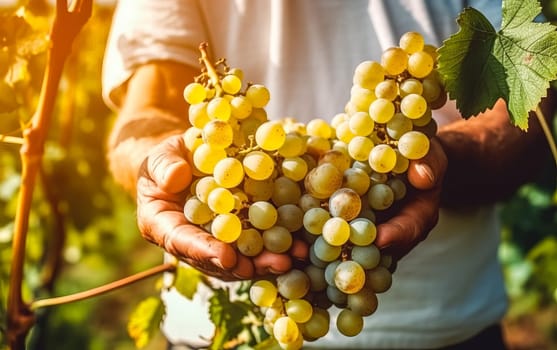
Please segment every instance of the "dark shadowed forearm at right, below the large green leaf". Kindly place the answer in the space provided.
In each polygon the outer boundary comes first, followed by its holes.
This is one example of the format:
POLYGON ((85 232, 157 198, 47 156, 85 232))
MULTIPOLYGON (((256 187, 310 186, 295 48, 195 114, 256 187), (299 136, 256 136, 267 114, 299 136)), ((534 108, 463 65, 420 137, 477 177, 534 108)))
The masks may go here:
MULTIPOLYGON (((554 99, 543 103, 554 113, 554 99)), ((480 205, 502 200, 531 180, 548 156, 547 140, 535 116, 528 131, 509 121, 504 103, 477 117, 440 128, 438 138, 448 158, 442 205, 480 205)))

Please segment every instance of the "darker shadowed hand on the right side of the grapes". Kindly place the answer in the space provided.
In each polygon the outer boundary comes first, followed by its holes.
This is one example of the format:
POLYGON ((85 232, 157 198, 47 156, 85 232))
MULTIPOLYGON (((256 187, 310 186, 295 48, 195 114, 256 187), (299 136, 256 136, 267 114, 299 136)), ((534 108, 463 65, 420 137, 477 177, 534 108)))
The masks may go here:
POLYGON ((424 158, 410 162, 408 181, 415 190, 409 189, 396 214, 378 225, 375 240, 382 252, 392 255, 395 267, 437 224, 446 168, 447 156, 435 138, 424 158))

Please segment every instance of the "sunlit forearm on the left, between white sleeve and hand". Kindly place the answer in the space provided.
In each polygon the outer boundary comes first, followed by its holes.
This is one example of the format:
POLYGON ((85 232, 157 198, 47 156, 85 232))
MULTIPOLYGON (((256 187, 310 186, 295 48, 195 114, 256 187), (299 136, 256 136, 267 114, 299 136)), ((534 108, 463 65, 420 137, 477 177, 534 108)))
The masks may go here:
POLYGON ((153 146, 187 129, 182 91, 193 74, 176 63, 156 62, 140 67, 127 83, 109 138, 108 162, 116 182, 132 195, 139 167, 153 146))

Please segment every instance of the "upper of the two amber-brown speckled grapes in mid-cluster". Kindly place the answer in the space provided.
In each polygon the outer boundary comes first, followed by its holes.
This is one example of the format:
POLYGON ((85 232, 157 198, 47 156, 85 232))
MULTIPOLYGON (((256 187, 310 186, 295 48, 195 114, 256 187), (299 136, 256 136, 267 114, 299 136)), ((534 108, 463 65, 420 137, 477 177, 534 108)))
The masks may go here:
POLYGON ((306 191, 316 198, 327 198, 342 185, 342 172, 332 164, 319 164, 304 179, 306 191))

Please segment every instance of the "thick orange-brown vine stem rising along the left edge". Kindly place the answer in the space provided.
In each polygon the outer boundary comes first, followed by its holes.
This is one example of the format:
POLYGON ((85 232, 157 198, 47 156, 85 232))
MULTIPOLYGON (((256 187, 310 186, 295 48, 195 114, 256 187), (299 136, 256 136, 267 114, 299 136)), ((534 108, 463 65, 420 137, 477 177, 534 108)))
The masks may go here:
POLYGON ((12 350, 25 348, 27 334, 34 323, 34 314, 23 301, 21 291, 25 242, 35 179, 41 166, 64 63, 70 54, 74 39, 91 17, 92 7, 93 0, 75 0, 70 7, 67 0, 56 1, 56 14, 50 32, 50 47, 39 102, 30 124, 23 132, 23 145, 20 150, 21 189, 15 217, 7 305, 7 338, 12 350))

